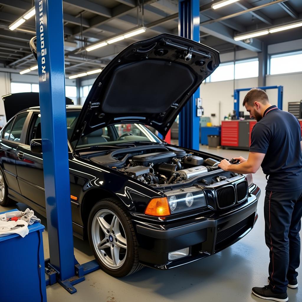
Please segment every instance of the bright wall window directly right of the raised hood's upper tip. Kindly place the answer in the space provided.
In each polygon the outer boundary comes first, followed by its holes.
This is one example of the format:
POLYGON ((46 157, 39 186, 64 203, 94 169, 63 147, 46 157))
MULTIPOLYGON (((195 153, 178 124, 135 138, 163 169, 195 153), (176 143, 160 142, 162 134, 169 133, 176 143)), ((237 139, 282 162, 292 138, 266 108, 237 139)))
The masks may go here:
MULTIPOLYGON (((235 63, 235 79, 253 78, 258 76, 258 59, 248 59, 235 63)), ((218 82, 234 79, 234 62, 222 63, 206 79, 206 82, 218 82)))

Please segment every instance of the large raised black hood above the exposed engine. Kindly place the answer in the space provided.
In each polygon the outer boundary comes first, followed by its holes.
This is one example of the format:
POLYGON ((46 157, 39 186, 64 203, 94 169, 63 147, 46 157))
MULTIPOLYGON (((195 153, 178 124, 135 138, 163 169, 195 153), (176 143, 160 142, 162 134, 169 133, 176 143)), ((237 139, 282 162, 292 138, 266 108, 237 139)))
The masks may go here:
POLYGON ((131 44, 95 80, 71 141, 112 124, 149 125, 163 136, 188 99, 220 64, 218 51, 160 34, 131 44))

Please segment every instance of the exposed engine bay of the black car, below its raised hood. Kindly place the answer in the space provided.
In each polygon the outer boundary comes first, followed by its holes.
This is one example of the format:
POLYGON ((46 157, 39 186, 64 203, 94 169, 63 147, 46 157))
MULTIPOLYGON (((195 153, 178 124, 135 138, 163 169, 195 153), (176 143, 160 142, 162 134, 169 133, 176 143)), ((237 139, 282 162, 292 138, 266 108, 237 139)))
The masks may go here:
POLYGON ((219 169, 218 160, 209 157, 207 153, 201 157, 173 146, 150 145, 107 150, 89 155, 88 159, 156 186, 181 184, 207 175, 211 177, 203 179, 203 183, 212 184, 233 176, 230 172, 226 172, 230 175, 213 176, 210 172, 219 169))

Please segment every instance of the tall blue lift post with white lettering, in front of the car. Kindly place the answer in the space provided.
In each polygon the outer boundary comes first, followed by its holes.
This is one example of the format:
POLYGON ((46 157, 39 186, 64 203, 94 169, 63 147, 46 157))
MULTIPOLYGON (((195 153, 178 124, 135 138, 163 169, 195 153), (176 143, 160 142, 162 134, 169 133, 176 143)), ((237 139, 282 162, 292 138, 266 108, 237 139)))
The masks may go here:
POLYGON ((63 4, 62 0, 35 0, 35 7, 50 265, 59 272, 57 278, 62 284, 75 275, 66 127, 63 4))

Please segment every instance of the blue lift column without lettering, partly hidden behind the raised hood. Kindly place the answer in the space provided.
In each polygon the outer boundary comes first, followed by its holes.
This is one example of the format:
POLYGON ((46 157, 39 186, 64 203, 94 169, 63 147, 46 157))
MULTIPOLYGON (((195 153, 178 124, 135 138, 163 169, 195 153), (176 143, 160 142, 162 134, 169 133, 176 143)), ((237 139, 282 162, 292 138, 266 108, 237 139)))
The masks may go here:
MULTIPOLYGON (((178 34, 199 42, 199 0, 180 0, 178 14, 178 34)), ((196 99, 200 97, 198 88, 179 113, 179 146, 199 150, 199 120, 196 99)))

